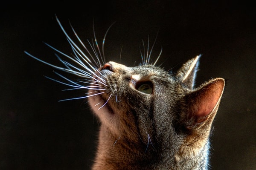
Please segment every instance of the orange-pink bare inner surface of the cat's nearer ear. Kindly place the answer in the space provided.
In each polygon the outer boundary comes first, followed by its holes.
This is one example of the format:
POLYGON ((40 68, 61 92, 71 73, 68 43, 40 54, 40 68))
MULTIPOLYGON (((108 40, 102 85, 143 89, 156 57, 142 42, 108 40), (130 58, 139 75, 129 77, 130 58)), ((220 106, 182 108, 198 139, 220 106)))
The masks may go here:
POLYGON ((223 79, 215 79, 214 81, 210 82, 202 89, 198 90, 198 95, 195 96, 195 106, 194 114, 197 116, 198 123, 204 121, 204 118, 209 115, 210 112, 214 109, 215 105, 218 103, 219 99, 221 98, 222 92, 224 89, 224 80, 223 79))

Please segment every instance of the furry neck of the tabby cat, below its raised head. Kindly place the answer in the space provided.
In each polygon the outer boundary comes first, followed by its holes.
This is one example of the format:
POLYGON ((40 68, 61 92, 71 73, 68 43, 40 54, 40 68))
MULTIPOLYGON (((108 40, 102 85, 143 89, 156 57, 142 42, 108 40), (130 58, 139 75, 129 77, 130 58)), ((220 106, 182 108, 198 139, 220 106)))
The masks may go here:
POLYGON ((196 155, 180 159, 177 158, 178 150, 171 143, 159 146, 131 143, 128 139, 115 136, 104 125, 100 127, 99 139, 92 170, 207 169, 209 141, 196 155))

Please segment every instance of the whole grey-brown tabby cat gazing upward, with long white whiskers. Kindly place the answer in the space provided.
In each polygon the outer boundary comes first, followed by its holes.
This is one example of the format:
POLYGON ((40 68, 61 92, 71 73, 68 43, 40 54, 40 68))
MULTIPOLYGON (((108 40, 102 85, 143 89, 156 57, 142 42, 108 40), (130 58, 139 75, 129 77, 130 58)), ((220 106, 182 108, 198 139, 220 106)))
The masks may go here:
POLYGON ((56 20, 71 45, 73 58, 46 45, 70 59, 72 64, 56 55, 65 66, 59 67, 25 53, 55 69, 80 77, 72 81, 55 72, 67 82, 54 81, 72 89, 88 90, 86 96, 79 98, 88 99, 90 108, 101 122, 92 170, 209 168, 209 135, 225 80, 215 78, 194 87, 201 55, 184 63, 176 73, 155 66, 160 55, 151 64, 148 49, 140 66, 105 62, 107 33, 102 52, 96 37, 95 45, 88 41, 94 56, 71 26, 86 55, 65 32, 57 17, 56 20))

